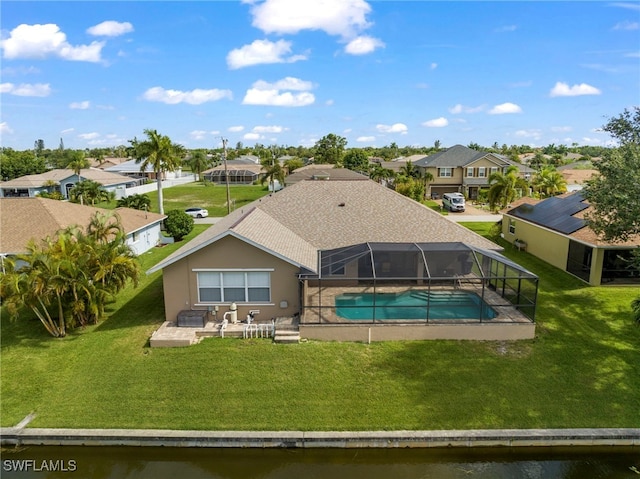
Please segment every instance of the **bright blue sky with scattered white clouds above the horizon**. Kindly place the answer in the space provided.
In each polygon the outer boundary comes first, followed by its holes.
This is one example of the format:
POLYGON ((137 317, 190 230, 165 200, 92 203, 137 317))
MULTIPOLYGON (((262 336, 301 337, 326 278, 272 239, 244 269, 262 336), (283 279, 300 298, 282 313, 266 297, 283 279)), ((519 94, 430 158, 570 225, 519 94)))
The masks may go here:
POLYGON ((640 3, 2 2, 2 145, 606 145, 640 3))

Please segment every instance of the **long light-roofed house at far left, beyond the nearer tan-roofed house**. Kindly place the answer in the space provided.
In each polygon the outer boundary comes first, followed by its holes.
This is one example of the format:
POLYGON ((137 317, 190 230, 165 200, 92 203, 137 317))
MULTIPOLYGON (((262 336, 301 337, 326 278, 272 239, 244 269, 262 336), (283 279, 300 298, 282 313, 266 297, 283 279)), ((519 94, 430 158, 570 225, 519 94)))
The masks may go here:
POLYGON ((110 173, 95 168, 80 171, 80 176, 73 170, 56 169, 38 175, 26 175, 9 181, 0 182, 0 198, 35 197, 39 193, 59 191, 64 198, 69 198, 69 191, 81 180, 92 180, 102 185, 107 191, 136 186, 137 181, 126 176, 110 173))

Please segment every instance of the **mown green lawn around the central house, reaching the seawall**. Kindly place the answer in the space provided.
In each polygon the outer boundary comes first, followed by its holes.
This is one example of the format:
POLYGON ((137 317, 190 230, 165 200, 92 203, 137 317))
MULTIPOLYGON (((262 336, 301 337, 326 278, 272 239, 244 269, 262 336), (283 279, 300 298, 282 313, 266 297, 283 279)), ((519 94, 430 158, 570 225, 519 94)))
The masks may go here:
MULTIPOLYGON (((486 234, 490 225, 468 226, 486 234)), ((145 254, 144 267, 179 246, 145 254)), ((108 320, 62 340, 33 319, 3 316, 1 423, 34 412, 33 427, 640 427, 640 328, 629 307, 640 289, 588 287, 527 253, 506 255, 541 277, 530 341, 211 338, 150 349, 163 319, 159 273, 128 290, 108 320)))

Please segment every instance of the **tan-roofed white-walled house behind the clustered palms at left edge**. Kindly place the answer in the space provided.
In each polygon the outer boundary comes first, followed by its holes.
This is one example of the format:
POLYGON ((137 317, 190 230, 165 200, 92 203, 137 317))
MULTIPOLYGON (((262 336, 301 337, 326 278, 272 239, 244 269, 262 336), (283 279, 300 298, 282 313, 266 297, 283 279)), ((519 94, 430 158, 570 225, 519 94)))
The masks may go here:
MULTIPOLYGON (((86 228, 101 208, 84 206, 48 198, 0 199, 0 254, 3 256, 25 253, 29 240, 54 236, 68 226, 86 228)), ((116 208, 127 235, 127 244, 140 255, 160 241, 160 226, 166 217, 131 208, 116 208)))

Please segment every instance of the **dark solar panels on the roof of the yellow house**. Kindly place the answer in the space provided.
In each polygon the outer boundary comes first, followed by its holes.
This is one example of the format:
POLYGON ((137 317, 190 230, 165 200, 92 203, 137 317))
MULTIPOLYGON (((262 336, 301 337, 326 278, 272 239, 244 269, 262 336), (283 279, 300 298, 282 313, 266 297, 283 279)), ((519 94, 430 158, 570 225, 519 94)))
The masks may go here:
POLYGON ((588 207, 584 197, 574 193, 564 198, 554 196, 536 205, 520 205, 510 214, 560 233, 571 234, 586 224, 583 219, 573 215, 588 207))

